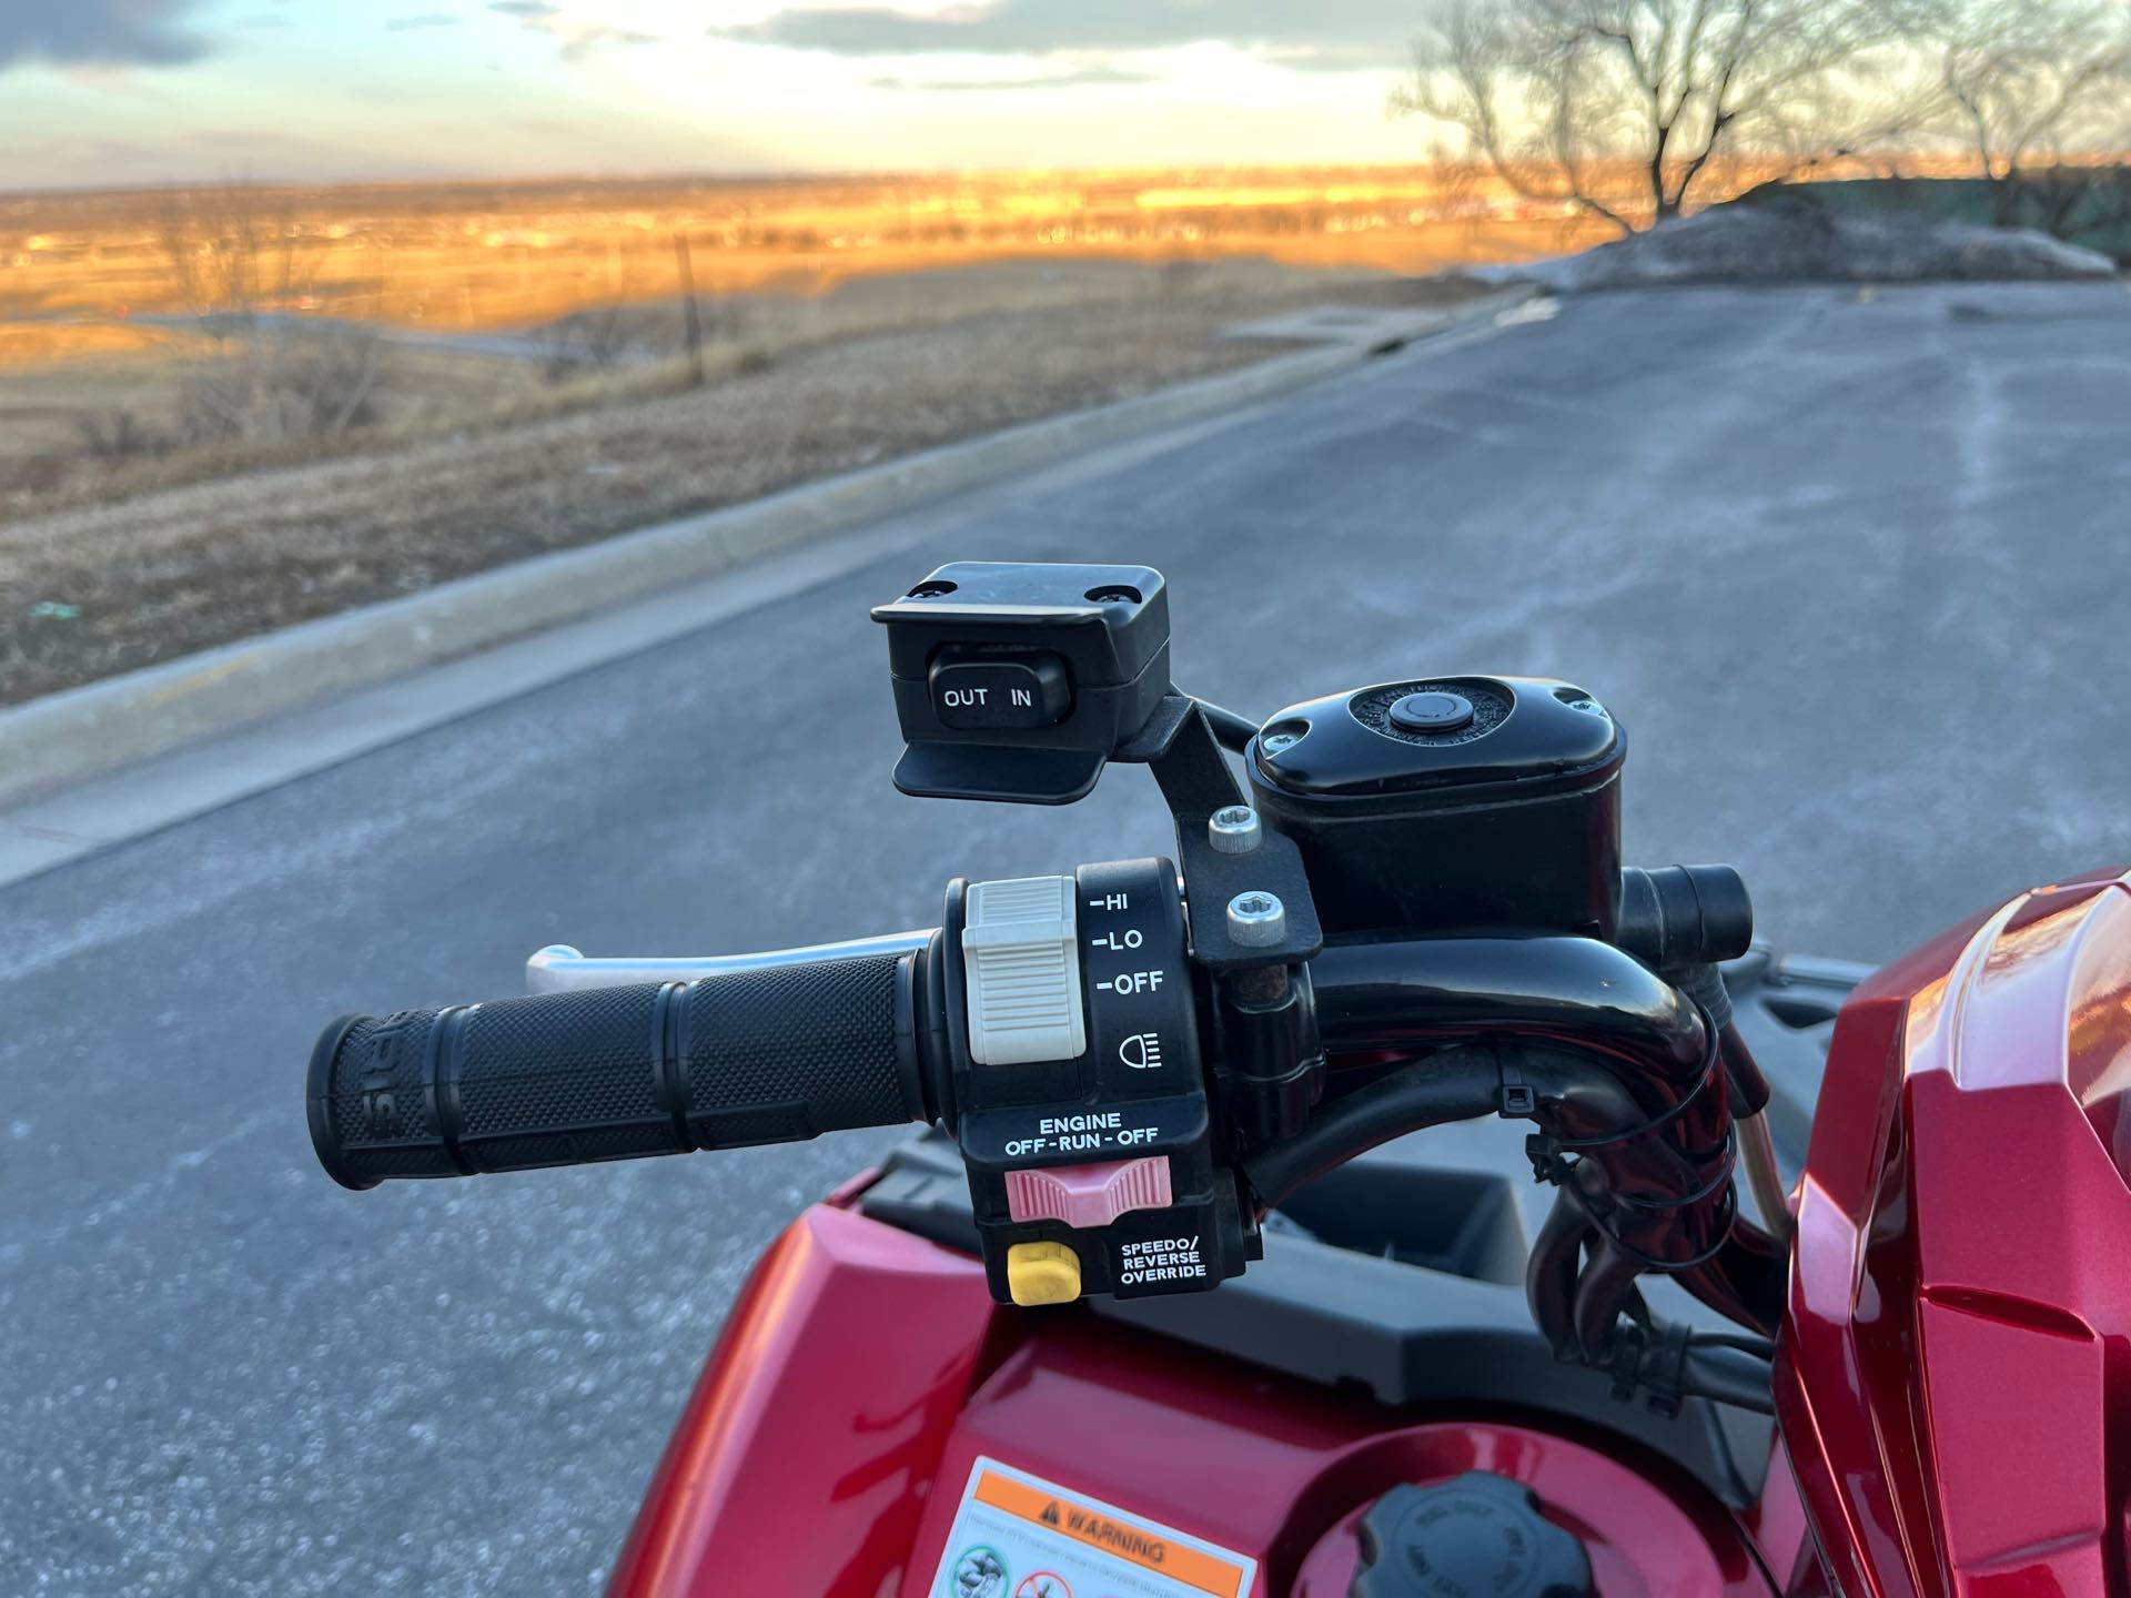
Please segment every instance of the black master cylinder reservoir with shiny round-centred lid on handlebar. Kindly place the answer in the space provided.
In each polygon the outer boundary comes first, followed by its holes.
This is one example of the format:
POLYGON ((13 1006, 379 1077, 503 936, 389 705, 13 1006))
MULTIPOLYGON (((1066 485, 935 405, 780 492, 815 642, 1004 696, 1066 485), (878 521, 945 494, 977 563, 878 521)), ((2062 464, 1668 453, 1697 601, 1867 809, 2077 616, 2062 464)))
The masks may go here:
POLYGON ((1289 705, 1251 799, 1302 850, 1325 935, 1613 937, 1626 739, 1551 678, 1417 678, 1289 705))

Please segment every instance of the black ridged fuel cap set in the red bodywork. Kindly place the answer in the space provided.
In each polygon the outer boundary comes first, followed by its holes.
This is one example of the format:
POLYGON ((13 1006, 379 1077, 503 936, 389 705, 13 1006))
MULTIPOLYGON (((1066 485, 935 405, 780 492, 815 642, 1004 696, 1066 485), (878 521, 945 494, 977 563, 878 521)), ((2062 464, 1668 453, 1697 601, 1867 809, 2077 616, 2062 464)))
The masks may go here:
POLYGON ((1539 1513, 1528 1487, 1492 1470, 1392 1487, 1360 1536, 1349 1598, 1592 1598, 1583 1545, 1539 1513))

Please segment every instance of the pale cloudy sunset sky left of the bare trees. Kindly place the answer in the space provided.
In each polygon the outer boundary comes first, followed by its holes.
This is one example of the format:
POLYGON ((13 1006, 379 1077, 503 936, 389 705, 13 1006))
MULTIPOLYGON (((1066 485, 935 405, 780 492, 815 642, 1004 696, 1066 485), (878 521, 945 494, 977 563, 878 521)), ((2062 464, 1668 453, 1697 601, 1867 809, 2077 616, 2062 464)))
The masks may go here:
POLYGON ((0 190, 1413 160, 1424 0, 0 0, 0 190))

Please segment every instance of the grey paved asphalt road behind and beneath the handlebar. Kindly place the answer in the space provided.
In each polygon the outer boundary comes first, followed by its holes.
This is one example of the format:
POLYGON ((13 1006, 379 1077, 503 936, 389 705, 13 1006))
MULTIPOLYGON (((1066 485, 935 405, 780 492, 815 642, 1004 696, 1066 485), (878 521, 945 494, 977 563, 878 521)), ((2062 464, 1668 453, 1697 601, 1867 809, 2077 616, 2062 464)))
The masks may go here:
POLYGON ((0 891, 0 1592, 597 1583, 748 1257, 876 1142, 354 1197, 300 1067, 546 942, 808 942, 1161 848, 1132 771, 891 793, 865 607, 936 558, 1159 565, 1181 680, 1255 712, 1573 678, 1630 729, 1632 857, 1884 957, 2131 854, 2125 418, 2114 288, 1571 303, 0 891))

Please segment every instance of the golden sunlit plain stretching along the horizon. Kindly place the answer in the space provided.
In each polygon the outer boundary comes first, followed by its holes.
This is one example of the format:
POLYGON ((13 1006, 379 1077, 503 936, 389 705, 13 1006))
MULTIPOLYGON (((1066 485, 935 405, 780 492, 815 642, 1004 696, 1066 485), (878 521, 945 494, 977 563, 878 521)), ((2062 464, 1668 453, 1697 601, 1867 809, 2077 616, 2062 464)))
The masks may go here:
POLYGON ((286 309, 424 328, 671 298, 676 234, 710 298, 1038 254, 1417 273, 1560 247, 1556 211, 1419 166, 30 194, 0 196, 0 324, 185 313, 173 251, 232 211, 298 241, 286 309))

